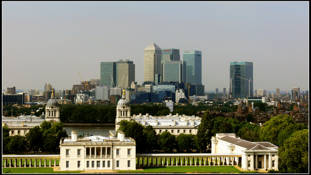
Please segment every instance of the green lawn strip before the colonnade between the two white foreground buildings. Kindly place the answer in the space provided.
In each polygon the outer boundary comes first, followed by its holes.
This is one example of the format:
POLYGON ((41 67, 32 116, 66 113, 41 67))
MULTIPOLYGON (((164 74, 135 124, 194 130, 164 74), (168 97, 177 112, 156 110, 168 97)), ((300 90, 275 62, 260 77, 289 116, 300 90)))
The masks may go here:
POLYGON ((234 172, 240 173, 241 171, 234 166, 154 166, 142 167, 143 170, 134 171, 118 171, 119 173, 224 173, 234 172))

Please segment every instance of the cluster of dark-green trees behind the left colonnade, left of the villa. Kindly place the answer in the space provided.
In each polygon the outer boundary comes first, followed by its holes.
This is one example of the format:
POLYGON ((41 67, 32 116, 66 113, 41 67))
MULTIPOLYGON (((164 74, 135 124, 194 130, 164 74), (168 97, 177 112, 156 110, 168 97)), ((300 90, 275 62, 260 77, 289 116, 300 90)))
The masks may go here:
POLYGON ((44 121, 40 126, 35 126, 26 133, 25 137, 14 135, 9 137, 10 129, 2 126, 2 152, 19 154, 24 151, 58 152, 59 141, 68 137, 63 130, 63 123, 44 121))

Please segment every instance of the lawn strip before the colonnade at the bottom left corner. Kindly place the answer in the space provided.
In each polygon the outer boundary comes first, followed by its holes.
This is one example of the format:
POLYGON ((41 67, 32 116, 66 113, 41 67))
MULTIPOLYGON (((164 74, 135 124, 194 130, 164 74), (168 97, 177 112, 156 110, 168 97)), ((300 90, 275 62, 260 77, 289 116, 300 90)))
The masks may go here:
POLYGON ((37 167, 33 167, 33 168, 2 168, 2 174, 4 173, 14 173, 14 174, 22 174, 22 173, 30 173, 30 174, 34 174, 34 173, 46 173, 46 174, 51 174, 51 173, 79 173, 81 171, 53 171, 53 168, 37 168, 37 167), (8 171, 11 172, 8 172, 8 171))

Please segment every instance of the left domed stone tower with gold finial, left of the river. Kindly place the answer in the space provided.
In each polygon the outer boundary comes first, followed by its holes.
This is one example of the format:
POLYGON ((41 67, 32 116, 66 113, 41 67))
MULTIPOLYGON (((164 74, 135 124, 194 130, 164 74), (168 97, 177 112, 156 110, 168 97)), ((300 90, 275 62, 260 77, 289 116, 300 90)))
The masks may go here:
POLYGON ((59 122, 59 104, 54 98, 52 91, 51 98, 48 100, 45 106, 45 121, 51 121, 53 123, 59 122))

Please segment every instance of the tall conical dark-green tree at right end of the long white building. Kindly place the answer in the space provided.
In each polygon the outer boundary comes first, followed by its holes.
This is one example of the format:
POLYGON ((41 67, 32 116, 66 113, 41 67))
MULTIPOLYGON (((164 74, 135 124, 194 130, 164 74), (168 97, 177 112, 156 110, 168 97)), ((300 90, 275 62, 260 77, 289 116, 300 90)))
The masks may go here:
POLYGON ((208 140, 211 139, 209 119, 209 110, 207 110, 202 116, 201 123, 197 129, 196 147, 201 151, 201 153, 207 149, 207 143, 209 143, 208 140))

